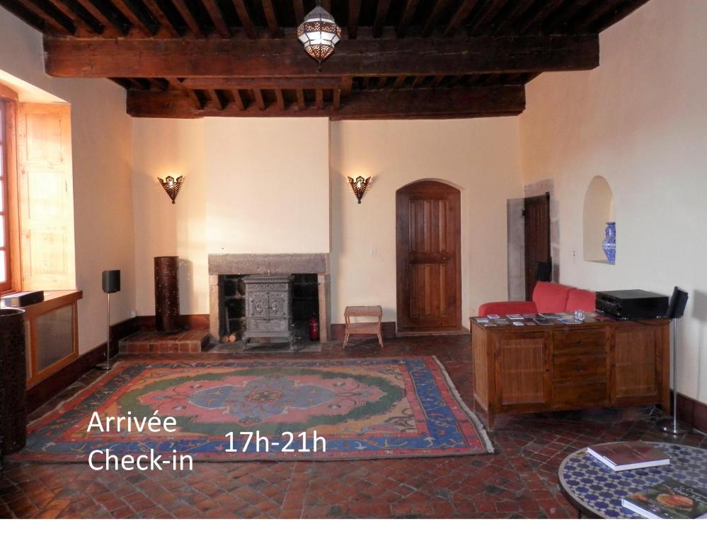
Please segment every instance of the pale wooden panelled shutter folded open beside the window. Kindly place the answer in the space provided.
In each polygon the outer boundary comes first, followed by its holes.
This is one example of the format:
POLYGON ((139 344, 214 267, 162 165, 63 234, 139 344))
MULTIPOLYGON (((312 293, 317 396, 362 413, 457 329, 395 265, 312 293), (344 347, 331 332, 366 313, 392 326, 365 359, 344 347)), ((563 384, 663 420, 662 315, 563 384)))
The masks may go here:
POLYGON ((71 106, 18 108, 23 290, 76 288, 71 106))

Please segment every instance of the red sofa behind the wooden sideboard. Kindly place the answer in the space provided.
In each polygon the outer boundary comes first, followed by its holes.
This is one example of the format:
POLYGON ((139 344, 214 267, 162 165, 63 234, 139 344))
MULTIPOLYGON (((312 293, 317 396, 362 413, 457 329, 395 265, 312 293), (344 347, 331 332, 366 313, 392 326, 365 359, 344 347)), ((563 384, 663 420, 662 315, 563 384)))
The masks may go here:
POLYGON ((489 302, 478 308, 478 315, 509 315, 513 313, 573 313, 576 309, 596 310, 596 296, 592 291, 558 283, 538 281, 533 290, 533 301, 489 302))

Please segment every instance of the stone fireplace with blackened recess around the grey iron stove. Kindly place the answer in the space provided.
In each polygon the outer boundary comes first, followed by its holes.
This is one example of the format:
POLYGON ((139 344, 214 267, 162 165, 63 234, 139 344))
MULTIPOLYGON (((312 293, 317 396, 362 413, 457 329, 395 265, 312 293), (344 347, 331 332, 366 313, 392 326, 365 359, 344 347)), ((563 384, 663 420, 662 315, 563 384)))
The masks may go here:
POLYGON ((242 337, 246 327, 243 277, 254 274, 292 274, 292 317, 295 334, 306 337, 306 322, 319 320, 320 341, 330 337, 328 253, 297 255, 209 255, 210 332, 219 339, 229 329, 242 337))

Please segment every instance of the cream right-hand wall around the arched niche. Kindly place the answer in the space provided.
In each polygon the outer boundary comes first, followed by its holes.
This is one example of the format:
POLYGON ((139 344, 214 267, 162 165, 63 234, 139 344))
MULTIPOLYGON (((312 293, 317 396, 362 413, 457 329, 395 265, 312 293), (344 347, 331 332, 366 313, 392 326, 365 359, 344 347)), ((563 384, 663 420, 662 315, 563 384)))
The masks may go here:
POLYGON ((601 66, 543 74, 520 117, 526 184, 555 180, 563 283, 689 291, 678 390, 707 401, 707 2, 652 0, 601 35, 601 66), (582 259, 592 177, 614 193, 616 265, 582 259))

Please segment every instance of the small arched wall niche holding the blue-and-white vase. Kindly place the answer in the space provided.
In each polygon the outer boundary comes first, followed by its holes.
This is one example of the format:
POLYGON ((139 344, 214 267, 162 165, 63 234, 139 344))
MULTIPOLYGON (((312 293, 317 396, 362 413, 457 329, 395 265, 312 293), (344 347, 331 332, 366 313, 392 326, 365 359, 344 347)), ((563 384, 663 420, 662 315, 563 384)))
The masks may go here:
POLYGON ((582 213, 583 249, 585 260, 609 263, 602 250, 607 222, 616 221, 614 217, 614 193, 604 177, 597 175, 592 179, 585 194, 582 213))

